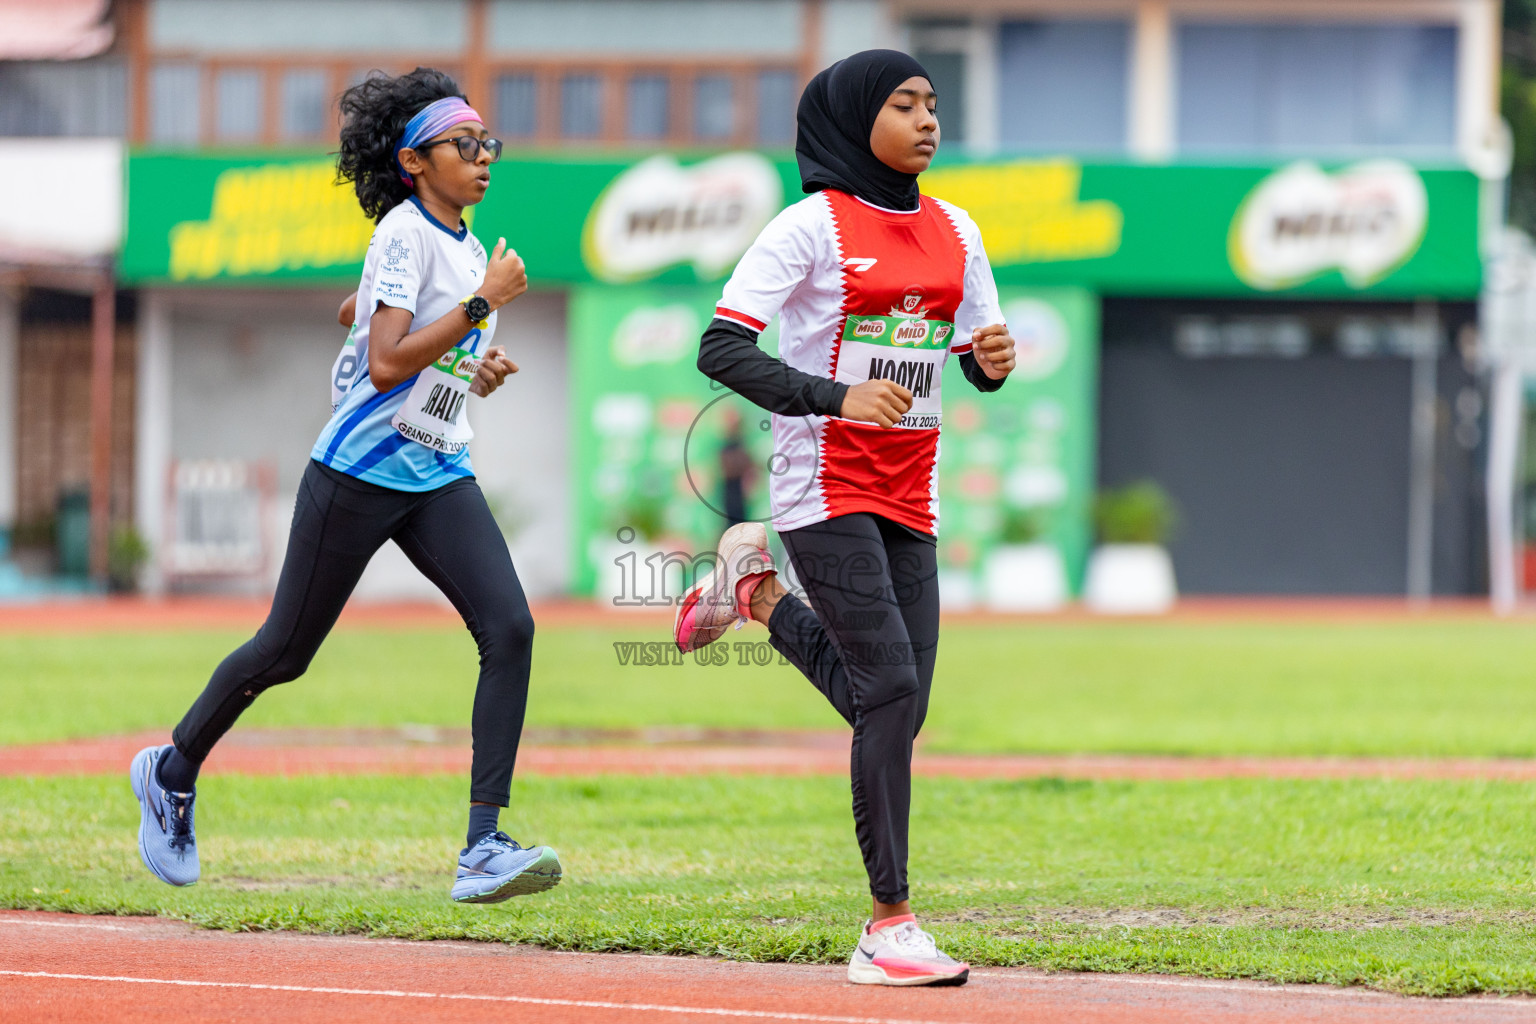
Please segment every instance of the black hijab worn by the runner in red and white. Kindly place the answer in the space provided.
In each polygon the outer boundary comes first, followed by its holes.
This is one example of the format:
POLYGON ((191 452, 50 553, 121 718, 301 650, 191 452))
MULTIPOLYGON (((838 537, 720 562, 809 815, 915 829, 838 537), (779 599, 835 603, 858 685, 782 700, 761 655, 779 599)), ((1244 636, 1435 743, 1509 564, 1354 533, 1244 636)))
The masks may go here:
POLYGON ((908 54, 866 49, 811 78, 794 115, 794 157, 806 192, 837 189, 889 210, 917 209, 917 175, 888 167, 869 150, 876 115, 914 75, 932 81, 908 54))

